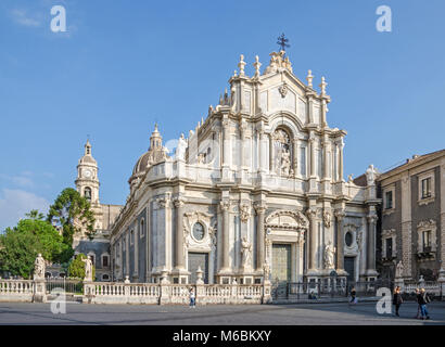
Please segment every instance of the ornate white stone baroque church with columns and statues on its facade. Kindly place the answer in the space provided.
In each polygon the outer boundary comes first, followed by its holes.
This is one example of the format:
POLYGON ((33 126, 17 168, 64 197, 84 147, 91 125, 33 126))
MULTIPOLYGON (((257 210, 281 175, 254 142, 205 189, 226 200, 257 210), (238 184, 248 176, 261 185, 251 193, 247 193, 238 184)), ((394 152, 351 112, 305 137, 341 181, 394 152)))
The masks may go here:
POLYGON ((303 82, 284 51, 263 73, 256 57, 252 77, 245 65, 175 154, 155 127, 107 227, 112 280, 194 283, 199 268, 205 283, 377 278, 376 170, 344 181, 346 131, 328 125, 325 78, 319 92, 310 70, 303 82))

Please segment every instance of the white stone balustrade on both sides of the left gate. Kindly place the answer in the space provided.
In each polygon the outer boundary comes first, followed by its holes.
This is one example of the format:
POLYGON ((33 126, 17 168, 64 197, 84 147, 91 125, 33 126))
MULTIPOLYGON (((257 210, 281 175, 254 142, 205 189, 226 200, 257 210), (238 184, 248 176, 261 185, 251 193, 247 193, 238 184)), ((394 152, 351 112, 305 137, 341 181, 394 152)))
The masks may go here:
MULTIPOLYGON (((0 301, 46 301, 44 280, 0 280, 0 301)), ((270 285, 263 284, 156 284, 84 282, 82 301, 88 304, 188 305, 190 288, 198 305, 263 304, 270 301, 270 285)))

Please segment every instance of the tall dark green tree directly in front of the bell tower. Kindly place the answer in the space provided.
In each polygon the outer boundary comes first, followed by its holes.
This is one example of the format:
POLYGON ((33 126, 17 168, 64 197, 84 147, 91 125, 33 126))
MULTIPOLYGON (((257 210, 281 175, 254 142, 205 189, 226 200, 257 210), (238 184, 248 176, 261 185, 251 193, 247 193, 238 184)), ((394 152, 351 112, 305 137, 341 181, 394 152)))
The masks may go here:
POLYGON ((87 230, 88 236, 92 237, 94 234, 96 219, 91 205, 73 188, 64 189, 50 206, 48 221, 62 228, 63 241, 69 246, 73 244, 73 235, 82 228, 87 230))

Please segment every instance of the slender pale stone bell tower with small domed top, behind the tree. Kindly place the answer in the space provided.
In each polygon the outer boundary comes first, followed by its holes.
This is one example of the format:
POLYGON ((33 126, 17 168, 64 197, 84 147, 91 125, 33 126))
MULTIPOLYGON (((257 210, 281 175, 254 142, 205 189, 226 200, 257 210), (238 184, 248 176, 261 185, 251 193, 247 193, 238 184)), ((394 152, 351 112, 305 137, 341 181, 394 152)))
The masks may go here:
POLYGON ((76 189, 81 196, 85 196, 91 206, 99 205, 99 178, 98 163, 91 155, 91 143, 87 140, 84 156, 77 165, 76 189))

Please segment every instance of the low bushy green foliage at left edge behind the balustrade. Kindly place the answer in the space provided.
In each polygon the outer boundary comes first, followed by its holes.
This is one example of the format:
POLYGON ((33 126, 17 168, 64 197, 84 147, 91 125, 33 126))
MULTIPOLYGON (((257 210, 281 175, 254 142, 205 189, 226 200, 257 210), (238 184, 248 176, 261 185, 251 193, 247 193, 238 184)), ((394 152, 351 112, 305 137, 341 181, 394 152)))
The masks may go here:
MULTIPOLYGON (((71 246, 63 243, 59 231, 37 210, 26 214, 14 228, 0 235, 0 269, 29 278, 38 253, 46 260, 59 262, 72 256, 71 246)), ((67 261, 67 260, 65 260, 67 261)))

